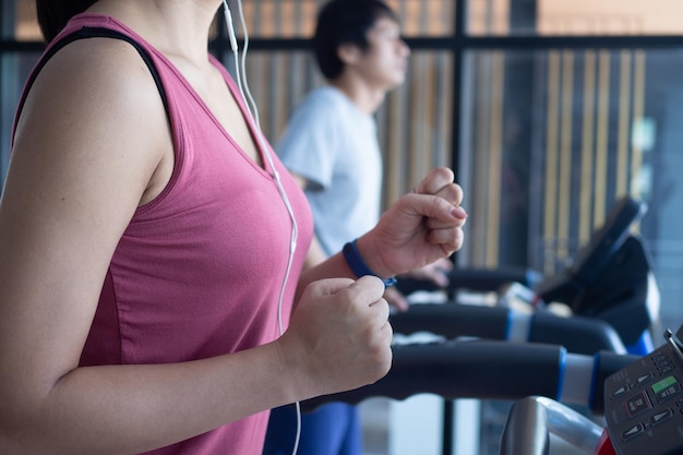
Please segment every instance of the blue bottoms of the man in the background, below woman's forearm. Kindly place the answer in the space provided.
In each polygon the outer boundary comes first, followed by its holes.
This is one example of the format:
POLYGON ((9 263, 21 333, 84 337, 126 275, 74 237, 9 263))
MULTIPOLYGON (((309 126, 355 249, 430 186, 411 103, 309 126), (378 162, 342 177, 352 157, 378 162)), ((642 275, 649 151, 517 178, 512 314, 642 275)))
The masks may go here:
MULTIPOLYGON (((292 455, 297 431, 293 406, 271 411, 263 455, 292 455)), ((355 406, 333 403, 301 415, 297 455, 361 455, 362 434, 355 406)))

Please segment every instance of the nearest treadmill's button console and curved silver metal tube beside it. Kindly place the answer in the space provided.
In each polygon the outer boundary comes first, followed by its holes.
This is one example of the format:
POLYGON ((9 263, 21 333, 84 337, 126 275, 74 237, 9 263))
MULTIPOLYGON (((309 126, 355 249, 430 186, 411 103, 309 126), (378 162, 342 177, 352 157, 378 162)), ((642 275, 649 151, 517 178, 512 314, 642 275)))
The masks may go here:
POLYGON ((666 343, 603 383, 606 427, 542 396, 517 400, 501 439, 501 455, 549 455, 550 435, 577 454, 683 454, 683 325, 666 343))

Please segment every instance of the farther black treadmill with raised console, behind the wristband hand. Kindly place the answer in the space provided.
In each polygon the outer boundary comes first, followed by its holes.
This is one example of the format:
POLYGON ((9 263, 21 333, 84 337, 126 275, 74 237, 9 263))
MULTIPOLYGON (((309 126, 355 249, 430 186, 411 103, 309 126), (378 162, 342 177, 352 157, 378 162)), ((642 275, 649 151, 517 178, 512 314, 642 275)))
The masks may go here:
MULTIPOLYGON (((504 296, 502 290, 510 289, 511 283, 519 284, 529 290, 528 311, 507 304, 420 303, 407 312, 393 314, 392 326, 404 335, 426 331, 446 338, 472 336, 561 344, 583 354, 631 349, 643 355, 651 349, 651 342, 643 342, 643 337, 658 318, 659 288, 644 241, 630 229, 646 209, 645 203, 630 196, 619 200, 576 261, 543 280, 531 283, 527 271, 451 273, 448 292, 467 288, 498 290, 504 296), (573 315, 565 318, 547 311, 542 302, 565 303, 573 315), (634 349, 639 343, 647 345, 634 349)), ((420 286, 417 282, 404 284, 404 292, 436 290, 420 283, 420 286)))

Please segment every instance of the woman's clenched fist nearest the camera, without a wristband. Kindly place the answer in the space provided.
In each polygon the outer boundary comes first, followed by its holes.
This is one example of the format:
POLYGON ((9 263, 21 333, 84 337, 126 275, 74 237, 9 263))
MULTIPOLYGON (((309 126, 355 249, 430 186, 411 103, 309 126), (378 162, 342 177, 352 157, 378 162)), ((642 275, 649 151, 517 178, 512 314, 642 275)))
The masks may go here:
POLYGON ((392 363, 384 284, 374 276, 311 283, 278 339, 300 399, 372 384, 392 363))

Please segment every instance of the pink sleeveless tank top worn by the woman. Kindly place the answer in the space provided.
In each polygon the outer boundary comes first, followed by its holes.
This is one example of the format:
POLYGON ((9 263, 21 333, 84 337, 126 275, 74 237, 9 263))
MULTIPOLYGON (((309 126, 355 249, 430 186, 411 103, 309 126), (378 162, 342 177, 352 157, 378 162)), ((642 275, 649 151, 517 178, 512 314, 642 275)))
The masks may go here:
MULTIPOLYGON (((263 169, 250 159, 169 60, 125 25, 81 14, 61 35, 84 26, 121 32, 152 56, 168 99, 176 165, 167 188, 135 212, 118 244, 81 364, 181 362, 275 339, 291 223, 267 160, 263 169)), ((247 117, 235 83, 209 58, 247 117)), ((273 158, 299 226, 283 308, 287 324, 313 225, 303 193, 273 158)), ((267 417, 153 453, 261 455, 267 417)))

